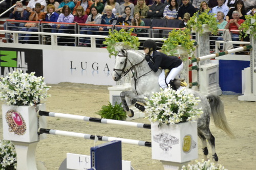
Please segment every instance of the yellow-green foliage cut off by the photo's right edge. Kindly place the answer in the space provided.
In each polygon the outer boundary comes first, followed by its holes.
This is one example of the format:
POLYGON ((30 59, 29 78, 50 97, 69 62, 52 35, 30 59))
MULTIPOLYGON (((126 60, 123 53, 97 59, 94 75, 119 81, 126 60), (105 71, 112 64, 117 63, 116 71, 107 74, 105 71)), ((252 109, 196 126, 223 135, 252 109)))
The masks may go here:
POLYGON ((250 29, 250 35, 253 35, 254 38, 256 38, 256 15, 245 15, 245 21, 241 23, 239 30, 240 30, 240 39, 242 38, 242 35, 244 32, 244 37, 247 37, 248 34, 246 33, 250 29), (251 23, 251 19, 254 19, 254 22, 251 23))

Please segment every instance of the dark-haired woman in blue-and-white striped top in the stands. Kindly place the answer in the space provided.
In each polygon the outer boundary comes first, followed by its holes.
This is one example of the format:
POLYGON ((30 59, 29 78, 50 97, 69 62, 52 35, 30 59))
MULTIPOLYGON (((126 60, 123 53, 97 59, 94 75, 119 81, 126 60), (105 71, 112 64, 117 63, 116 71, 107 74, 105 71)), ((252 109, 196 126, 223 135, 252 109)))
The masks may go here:
POLYGON ((178 10, 177 0, 169 0, 169 4, 164 8, 163 17, 166 19, 177 19, 178 10))

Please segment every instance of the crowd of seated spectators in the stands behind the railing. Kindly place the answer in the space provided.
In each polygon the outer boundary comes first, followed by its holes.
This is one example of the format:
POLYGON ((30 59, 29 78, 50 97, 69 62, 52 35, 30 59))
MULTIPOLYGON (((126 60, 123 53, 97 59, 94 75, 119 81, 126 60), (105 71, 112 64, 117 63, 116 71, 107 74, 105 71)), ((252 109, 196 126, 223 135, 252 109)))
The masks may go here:
MULTIPOLYGON (((64 23, 90 23, 100 25, 145 26, 143 18, 181 20, 180 28, 197 11, 205 10, 216 14, 219 29, 238 29, 245 15, 254 15, 255 0, 30 0, 26 9, 19 1, 10 12, 10 18, 24 21, 62 22, 49 25, 53 33, 65 33, 69 25, 64 23)), ((6 22, 8 30, 38 31, 32 22, 12 24, 6 22)), ((80 34, 108 35, 110 27, 82 28, 80 34)), ((145 30, 136 28, 137 33, 145 30)), ((220 32, 220 34, 222 34, 220 32)), ((9 35, 6 35, 9 36, 9 35)), ((138 36, 143 36, 138 34, 138 36)), ((238 40, 238 33, 231 33, 232 40, 238 40)), ((10 37, 7 37, 8 39, 10 37)), ((27 43, 29 34, 20 34, 20 42, 27 43)), ((83 39, 80 46, 87 46, 90 39, 83 39)))

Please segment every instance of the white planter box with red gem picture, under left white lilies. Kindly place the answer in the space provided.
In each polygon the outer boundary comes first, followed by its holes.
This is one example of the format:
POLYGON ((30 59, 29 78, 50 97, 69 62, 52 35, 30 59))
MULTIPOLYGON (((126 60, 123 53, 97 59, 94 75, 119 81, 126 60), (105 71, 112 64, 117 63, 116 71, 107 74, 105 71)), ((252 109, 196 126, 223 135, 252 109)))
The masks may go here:
MULTIPOLYGON (((38 110, 45 111, 45 104, 37 105, 38 110)), ((2 105, 3 133, 5 140, 19 142, 39 141, 38 128, 46 128, 46 117, 38 118, 35 106, 2 105)), ((40 135, 40 139, 46 135, 40 135)))

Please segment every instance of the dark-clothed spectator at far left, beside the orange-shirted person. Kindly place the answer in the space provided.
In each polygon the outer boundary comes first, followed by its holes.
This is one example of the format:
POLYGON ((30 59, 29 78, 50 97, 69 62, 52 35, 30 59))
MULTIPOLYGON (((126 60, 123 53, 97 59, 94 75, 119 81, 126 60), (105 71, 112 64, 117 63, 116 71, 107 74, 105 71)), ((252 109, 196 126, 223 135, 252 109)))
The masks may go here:
MULTIPOLYGON (((23 4, 20 1, 16 2, 16 7, 14 10, 10 13, 9 18, 15 19, 15 20, 29 20, 29 15, 30 13, 26 10, 23 9, 23 4)), ((24 27, 24 23, 10 23, 10 22, 5 22, 4 23, 4 29, 5 30, 13 30, 13 31, 18 31, 19 27, 24 27)), ((5 33, 5 37, 9 41, 10 36, 9 34, 5 33)))

